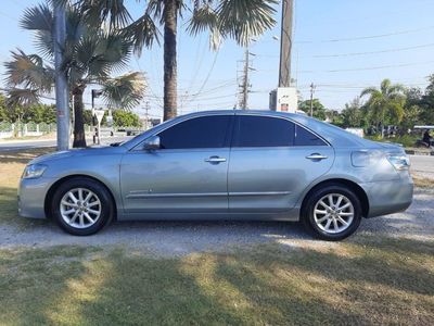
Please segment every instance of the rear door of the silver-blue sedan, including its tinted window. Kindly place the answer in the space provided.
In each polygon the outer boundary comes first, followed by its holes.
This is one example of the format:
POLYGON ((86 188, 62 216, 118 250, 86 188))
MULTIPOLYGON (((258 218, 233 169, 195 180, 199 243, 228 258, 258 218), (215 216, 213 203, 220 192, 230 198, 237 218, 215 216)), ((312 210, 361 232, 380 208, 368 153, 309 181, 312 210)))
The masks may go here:
POLYGON ((284 117, 238 114, 231 147, 229 211, 289 211, 303 190, 328 172, 334 151, 284 117))

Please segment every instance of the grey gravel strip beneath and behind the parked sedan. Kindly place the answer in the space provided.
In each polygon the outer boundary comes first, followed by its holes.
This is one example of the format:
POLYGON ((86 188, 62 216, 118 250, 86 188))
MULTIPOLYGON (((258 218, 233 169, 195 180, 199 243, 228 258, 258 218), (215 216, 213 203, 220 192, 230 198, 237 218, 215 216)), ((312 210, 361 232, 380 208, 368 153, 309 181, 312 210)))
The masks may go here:
MULTIPOLYGON (((17 217, 18 218, 18 217, 17 217)), ((192 252, 228 251, 264 242, 293 247, 336 248, 339 242, 314 240, 298 223, 284 222, 124 222, 90 237, 63 233, 51 222, 28 220, 29 227, 0 226, 0 248, 51 246, 123 246, 159 255, 181 256, 192 252)), ((411 206, 403 213, 362 220, 349 238, 363 236, 432 240, 434 190, 416 189, 411 206)))

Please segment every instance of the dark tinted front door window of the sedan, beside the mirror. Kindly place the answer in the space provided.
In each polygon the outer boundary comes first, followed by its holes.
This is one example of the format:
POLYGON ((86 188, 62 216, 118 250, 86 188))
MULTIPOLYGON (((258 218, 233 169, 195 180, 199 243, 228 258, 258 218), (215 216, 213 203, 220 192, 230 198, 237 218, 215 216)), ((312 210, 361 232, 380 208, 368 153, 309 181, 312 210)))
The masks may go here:
POLYGON ((191 118, 158 134, 162 149, 221 148, 231 116, 191 118))

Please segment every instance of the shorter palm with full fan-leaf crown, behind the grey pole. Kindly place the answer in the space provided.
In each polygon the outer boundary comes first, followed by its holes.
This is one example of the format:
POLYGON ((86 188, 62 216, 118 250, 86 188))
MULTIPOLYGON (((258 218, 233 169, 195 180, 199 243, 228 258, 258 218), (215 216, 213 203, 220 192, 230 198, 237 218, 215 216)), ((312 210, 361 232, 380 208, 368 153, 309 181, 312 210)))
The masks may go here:
MULTIPOLYGON (((126 67, 133 43, 124 32, 91 24, 74 7, 66 7, 66 43, 62 64, 67 75, 74 102, 74 143, 86 147, 84 128, 84 92, 89 85, 101 88, 102 96, 112 109, 130 109, 137 105, 144 91, 144 76, 130 72, 112 77, 113 72, 126 67)), ((12 51, 12 61, 5 63, 10 101, 28 105, 40 97, 50 95, 54 86, 53 71, 53 12, 49 5, 33 7, 21 20, 24 29, 35 33, 39 54, 12 51)))

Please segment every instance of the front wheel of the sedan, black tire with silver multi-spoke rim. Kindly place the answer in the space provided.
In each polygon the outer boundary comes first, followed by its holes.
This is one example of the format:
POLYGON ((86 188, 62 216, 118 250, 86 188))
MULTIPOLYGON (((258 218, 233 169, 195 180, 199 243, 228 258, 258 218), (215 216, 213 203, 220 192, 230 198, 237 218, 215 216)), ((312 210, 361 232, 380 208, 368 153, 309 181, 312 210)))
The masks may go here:
POLYGON ((66 233, 89 236, 111 222, 114 205, 108 190, 102 184, 78 177, 66 180, 54 191, 51 212, 66 233))

